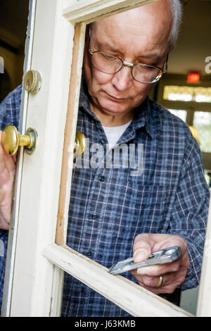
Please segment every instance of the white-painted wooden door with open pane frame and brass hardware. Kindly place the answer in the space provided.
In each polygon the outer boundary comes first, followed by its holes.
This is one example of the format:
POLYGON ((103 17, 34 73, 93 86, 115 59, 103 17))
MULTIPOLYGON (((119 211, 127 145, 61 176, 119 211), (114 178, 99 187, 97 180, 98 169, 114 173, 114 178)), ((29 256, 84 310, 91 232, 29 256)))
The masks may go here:
POLYGON ((63 270, 133 316, 190 316, 65 245, 86 25, 149 2, 30 2, 25 73, 37 70, 42 84, 37 94, 23 93, 20 130, 37 130, 37 149, 20 149, 3 316, 60 316, 63 270))

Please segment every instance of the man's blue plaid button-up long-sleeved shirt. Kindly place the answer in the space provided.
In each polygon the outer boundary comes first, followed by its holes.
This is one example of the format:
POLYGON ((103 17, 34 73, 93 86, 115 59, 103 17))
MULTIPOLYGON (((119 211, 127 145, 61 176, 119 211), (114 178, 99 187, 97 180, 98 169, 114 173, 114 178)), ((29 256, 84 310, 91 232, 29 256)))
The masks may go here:
MULTIPOLYGON (((20 95, 21 87, 18 87, 1 104, 1 130, 8 123, 18 126, 20 95)), ((77 131, 89 137, 89 146, 101 144, 106 157, 108 141, 101 122, 91 112, 84 82, 77 131)), ((129 167, 100 166, 103 162, 100 157, 97 167, 75 166, 68 246, 110 267, 132 256, 134 238, 140 233, 180 235, 188 243, 191 262, 180 288, 196 287, 210 198, 196 139, 182 120, 146 98, 136 108, 132 123, 117 144, 143 144, 143 174, 132 176, 134 169, 129 167)), ((85 154, 82 160, 88 157, 89 161, 90 156, 85 154)), ((0 239, 4 240, 6 250, 6 231, 1 230, 0 239)), ((0 257, 0 296, 4 268, 5 257, 0 257)), ((136 282, 130 273, 124 276, 136 282)), ((61 316, 123 317, 129 314, 65 273, 61 316)))

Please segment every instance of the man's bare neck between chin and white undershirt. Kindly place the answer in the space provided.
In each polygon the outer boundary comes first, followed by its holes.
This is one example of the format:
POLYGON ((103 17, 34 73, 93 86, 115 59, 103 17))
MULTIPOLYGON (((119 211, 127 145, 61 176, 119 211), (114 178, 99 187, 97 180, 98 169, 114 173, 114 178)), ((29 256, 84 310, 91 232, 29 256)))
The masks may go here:
POLYGON ((108 111, 103 111, 98 109, 93 104, 90 104, 91 111, 96 115, 96 118, 101 122, 102 126, 105 127, 116 127, 119 125, 124 125, 128 123, 132 118, 134 118, 134 109, 127 111, 127 113, 108 113, 108 111))

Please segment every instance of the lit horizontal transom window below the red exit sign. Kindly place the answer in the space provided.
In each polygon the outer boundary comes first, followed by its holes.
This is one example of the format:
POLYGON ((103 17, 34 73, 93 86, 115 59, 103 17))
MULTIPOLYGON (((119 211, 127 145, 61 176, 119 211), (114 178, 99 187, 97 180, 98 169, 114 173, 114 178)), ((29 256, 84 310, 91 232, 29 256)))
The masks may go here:
POLYGON ((211 102, 211 87, 166 85, 163 99, 170 101, 211 102))

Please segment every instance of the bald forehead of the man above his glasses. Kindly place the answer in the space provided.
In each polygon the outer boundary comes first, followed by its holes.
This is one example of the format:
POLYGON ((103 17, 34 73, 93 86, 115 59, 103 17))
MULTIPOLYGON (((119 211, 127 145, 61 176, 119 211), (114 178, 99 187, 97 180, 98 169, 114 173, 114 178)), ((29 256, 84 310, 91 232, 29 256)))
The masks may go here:
MULTIPOLYGON (((144 6, 143 6, 144 7, 144 6)), ((98 20, 93 25, 91 34, 98 46, 106 46, 111 51, 128 49, 128 45, 139 55, 140 50, 160 53, 170 40, 171 17, 169 22, 157 16, 153 11, 143 11, 143 7, 98 20)), ((168 16, 167 16, 168 17, 168 16)), ((142 53, 142 52, 141 52, 142 53)), ((149 54, 152 57, 152 54, 149 54)))

